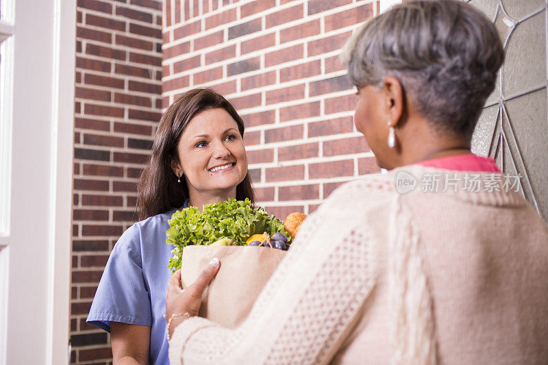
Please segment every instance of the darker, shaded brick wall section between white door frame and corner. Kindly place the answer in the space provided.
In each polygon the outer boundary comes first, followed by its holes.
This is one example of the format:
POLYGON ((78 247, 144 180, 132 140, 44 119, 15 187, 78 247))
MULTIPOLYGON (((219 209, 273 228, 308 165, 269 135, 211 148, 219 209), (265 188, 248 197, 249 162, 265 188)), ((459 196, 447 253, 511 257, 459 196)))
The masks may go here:
POLYGON ((85 319, 162 112, 162 1, 78 0, 76 42, 71 362, 109 364, 85 319))

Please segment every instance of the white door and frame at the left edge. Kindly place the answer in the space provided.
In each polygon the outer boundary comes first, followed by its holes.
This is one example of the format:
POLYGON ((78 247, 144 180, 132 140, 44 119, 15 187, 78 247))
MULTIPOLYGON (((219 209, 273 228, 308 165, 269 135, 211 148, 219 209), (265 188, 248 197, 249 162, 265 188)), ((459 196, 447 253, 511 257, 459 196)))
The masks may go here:
POLYGON ((67 364, 76 4, 0 3, 0 364, 67 364))

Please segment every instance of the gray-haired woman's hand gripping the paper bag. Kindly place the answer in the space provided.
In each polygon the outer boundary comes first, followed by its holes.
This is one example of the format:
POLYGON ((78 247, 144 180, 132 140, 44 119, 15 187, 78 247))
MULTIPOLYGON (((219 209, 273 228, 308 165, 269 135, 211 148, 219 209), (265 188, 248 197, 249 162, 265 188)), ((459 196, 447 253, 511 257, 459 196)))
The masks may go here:
POLYGON ((168 338, 179 323, 191 316, 197 316, 200 310, 201 295, 206 286, 219 271, 219 259, 211 260, 194 284, 182 288, 181 270, 175 271, 169 278, 166 292, 166 319, 168 320, 168 338), (175 315, 175 316, 174 316, 175 315), (171 322, 169 322, 171 320, 171 322))

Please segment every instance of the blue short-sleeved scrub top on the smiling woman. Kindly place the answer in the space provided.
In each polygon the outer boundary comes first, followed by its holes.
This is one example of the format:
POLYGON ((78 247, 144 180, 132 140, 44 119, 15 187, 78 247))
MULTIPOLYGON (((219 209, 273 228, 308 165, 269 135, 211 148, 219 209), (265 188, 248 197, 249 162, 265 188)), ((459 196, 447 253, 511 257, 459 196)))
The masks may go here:
MULTIPOLYGON (((187 207, 188 199, 183 207, 187 207)), ((114 245, 99 281, 87 323, 110 332, 110 321, 151 326, 149 362, 169 364, 166 339, 168 221, 176 209, 129 227, 114 245)))

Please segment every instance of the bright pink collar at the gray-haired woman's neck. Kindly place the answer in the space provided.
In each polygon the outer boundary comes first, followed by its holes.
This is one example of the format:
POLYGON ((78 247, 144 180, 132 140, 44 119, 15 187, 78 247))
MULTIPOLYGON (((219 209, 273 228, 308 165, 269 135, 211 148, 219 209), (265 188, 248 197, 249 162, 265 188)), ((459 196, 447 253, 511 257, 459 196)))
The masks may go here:
POLYGON ((445 158, 434 158, 417 162, 422 166, 444 168, 453 171, 474 171, 486 173, 500 173, 499 167, 492 158, 484 158, 477 155, 454 155, 445 158))

